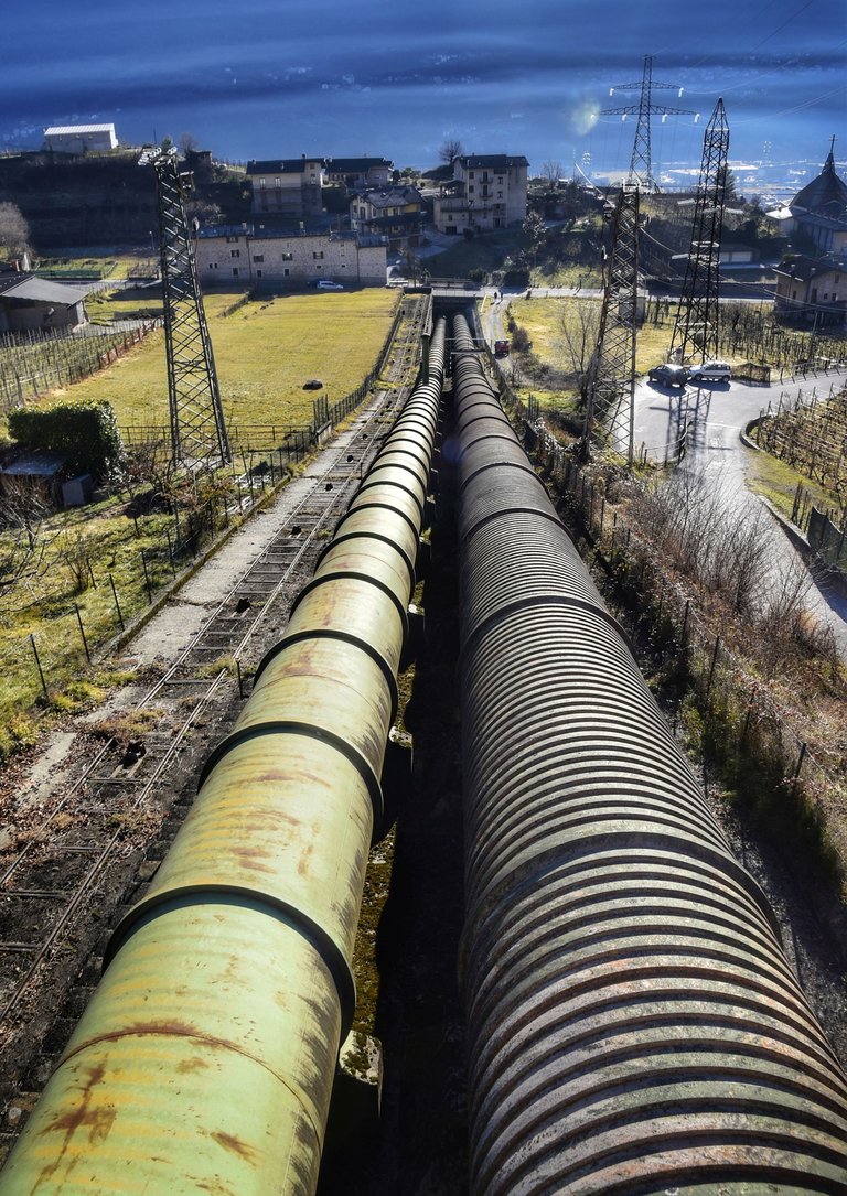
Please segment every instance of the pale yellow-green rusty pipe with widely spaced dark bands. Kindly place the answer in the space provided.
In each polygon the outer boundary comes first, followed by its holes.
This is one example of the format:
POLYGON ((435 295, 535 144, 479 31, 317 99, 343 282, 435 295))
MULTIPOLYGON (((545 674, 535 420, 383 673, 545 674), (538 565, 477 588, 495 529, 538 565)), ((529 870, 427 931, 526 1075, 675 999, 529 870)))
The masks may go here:
POLYGON ((445 329, 0 1176, 4 1196, 315 1190, 414 588, 445 329))

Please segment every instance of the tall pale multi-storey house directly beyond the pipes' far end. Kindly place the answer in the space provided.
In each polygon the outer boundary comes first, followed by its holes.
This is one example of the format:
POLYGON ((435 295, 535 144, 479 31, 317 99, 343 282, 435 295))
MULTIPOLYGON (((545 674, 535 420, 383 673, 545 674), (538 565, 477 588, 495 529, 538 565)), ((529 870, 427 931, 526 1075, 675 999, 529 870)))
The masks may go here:
POLYGON ((465 154, 453 163, 453 177, 435 197, 433 219, 443 233, 506 228, 526 218, 523 154, 465 154))

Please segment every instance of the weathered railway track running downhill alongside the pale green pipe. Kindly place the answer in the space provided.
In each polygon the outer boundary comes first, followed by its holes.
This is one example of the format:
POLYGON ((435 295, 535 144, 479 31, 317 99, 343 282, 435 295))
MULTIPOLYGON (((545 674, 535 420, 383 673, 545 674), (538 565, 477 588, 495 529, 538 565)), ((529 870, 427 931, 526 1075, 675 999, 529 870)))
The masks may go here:
POLYGON ((389 359, 391 389, 380 390, 340 446, 317 459, 307 492, 279 531, 135 702, 130 713, 145 730, 129 743, 103 743, 55 793, 28 842, 0 865, 0 927, 14 927, 13 935, 0 929, 0 1076, 7 1078, 0 1080, 0 1161, 96 984, 98 940, 122 893, 150 879, 190 806, 190 797, 177 795, 179 777, 207 749, 209 725, 219 733, 227 706, 230 713, 238 708, 243 664, 276 634, 408 397, 427 319, 424 299, 406 301, 389 359), (56 1015, 35 1013, 54 990, 56 1015))

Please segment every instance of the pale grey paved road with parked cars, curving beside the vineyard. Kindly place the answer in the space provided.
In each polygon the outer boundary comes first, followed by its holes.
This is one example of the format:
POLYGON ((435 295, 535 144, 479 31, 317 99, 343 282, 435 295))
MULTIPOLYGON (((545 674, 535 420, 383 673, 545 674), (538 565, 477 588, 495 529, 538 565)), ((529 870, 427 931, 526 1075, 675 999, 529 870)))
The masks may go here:
MULTIPOLYGON (((752 452, 741 440, 745 426, 762 409, 767 409, 768 402, 776 407, 781 395, 794 399, 800 391, 810 395, 816 390, 819 397, 825 397, 846 382, 847 372, 841 371, 818 378, 786 379, 781 386, 731 382, 700 388, 689 385, 681 392, 642 380, 635 391, 635 444, 645 445, 648 457, 654 460, 672 456, 681 426, 688 416, 688 456, 682 468, 705 472, 720 488, 727 512, 736 513, 738 518, 751 518, 760 514, 761 504, 745 486, 752 452)), ((775 575, 785 569, 805 570, 800 554, 775 518, 769 536, 775 575)), ((841 653, 847 658, 847 599, 822 590, 811 574, 808 574, 808 608, 831 627, 841 653)))

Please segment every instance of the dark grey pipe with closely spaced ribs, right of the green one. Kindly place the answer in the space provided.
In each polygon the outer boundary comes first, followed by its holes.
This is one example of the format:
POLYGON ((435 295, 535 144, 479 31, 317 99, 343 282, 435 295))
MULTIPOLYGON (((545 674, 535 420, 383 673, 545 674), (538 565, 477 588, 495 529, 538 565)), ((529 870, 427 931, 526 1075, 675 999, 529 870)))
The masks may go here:
POLYGON ((773 914, 455 334, 471 1192, 845 1192, 773 914))

